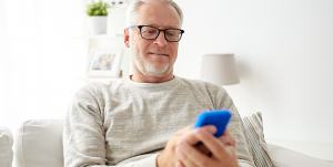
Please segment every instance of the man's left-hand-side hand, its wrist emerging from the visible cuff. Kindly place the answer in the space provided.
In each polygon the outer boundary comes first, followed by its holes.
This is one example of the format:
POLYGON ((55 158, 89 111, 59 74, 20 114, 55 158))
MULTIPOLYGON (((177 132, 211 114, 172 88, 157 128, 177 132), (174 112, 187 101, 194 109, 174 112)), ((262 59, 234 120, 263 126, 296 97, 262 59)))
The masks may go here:
MULTIPOLYGON (((196 152, 200 152, 202 155, 209 156, 210 150, 205 146, 200 145, 196 148, 193 147, 193 145, 195 145, 200 142, 200 138, 198 137, 199 131, 206 132, 209 134, 214 134, 216 132, 216 127, 210 125, 210 126, 203 126, 203 127, 193 129, 193 125, 191 125, 191 126, 186 126, 183 129, 176 132, 168 140, 164 150, 158 156, 158 158, 157 158, 158 167, 175 167, 176 161, 181 160, 175 155, 175 148, 181 143, 186 143, 189 145, 189 147, 191 146, 193 149, 195 149, 196 152)), ((186 166, 186 167, 191 167, 191 166, 186 166)))

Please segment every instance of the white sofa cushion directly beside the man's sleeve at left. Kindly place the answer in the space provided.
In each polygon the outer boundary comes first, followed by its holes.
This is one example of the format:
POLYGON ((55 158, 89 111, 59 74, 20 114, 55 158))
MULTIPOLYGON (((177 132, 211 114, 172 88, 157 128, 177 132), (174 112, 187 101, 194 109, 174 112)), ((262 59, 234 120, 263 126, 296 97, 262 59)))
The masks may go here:
POLYGON ((63 119, 31 119, 16 134, 17 167, 63 167, 63 119))

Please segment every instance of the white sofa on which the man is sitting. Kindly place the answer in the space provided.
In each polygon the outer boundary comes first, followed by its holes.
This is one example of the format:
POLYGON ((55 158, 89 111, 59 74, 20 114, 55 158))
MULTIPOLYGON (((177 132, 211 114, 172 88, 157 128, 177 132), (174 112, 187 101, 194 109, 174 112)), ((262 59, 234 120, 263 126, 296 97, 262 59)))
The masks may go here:
MULTIPOLYGON (((22 123, 14 132, 16 167, 63 167, 62 157, 63 119, 31 119, 22 123)), ((0 128, 1 129, 1 128, 0 128)), ((1 136, 1 131, 0 131, 1 136)), ((7 133, 7 136, 8 135, 7 133)), ((0 137, 1 139, 1 137, 0 137)), ((12 140, 1 143, 2 148, 10 148, 12 140)), ((313 158, 283 147, 269 144, 275 167, 333 167, 333 163, 313 158)), ((10 149, 11 150, 11 149, 10 149)), ((11 153, 12 152, 7 152, 11 153)), ((0 159, 0 167, 10 167, 9 160, 0 159)))

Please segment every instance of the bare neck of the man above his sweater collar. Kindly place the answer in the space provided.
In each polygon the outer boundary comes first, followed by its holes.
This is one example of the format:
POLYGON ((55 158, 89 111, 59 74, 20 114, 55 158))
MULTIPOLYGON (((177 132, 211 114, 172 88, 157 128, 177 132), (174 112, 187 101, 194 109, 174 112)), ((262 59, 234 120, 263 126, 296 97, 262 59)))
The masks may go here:
POLYGON ((165 77, 145 76, 140 72, 133 72, 133 75, 131 75, 130 79, 133 82, 139 82, 139 83, 162 83, 162 82, 171 81, 172 79, 174 79, 174 76, 172 71, 165 77))

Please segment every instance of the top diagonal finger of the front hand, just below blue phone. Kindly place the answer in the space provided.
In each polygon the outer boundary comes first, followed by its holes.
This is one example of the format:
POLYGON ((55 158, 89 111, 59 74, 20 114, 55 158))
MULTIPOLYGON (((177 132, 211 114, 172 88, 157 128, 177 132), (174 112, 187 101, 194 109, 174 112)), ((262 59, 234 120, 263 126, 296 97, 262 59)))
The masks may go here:
POLYGON ((198 131, 198 138, 212 152, 215 157, 228 157, 228 152, 220 139, 205 131, 198 131))

